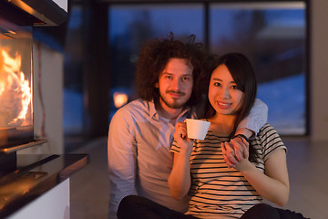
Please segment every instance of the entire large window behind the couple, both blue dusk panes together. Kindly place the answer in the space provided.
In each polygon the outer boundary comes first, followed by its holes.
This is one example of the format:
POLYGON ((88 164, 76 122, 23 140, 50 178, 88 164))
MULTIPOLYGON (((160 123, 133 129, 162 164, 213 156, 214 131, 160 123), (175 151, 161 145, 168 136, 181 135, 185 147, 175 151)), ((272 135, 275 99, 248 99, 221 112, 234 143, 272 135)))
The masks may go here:
MULTIPOLYGON (((233 51, 249 57, 257 74, 258 98, 269 107, 268 122, 281 134, 305 134, 305 3, 218 1, 210 3, 208 11, 206 4, 110 5, 112 94, 117 90, 135 93, 131 92, 134 62, 144 41, 170 31, 177 36, 195 34, 200 42, 209 39, 211 53, 233 51)), ((116 109, 112 109, 113 114, 116 109)))

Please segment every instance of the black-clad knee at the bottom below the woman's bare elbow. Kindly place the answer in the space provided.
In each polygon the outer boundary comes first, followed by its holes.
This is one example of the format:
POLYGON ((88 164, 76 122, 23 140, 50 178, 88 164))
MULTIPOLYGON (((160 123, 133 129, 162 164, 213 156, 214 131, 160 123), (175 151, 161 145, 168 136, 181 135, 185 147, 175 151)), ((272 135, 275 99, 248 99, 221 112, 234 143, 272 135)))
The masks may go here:
POLYGON ((276 209, 266 203, 258 203, 245 212, 241 219, 280 219, 276 209))

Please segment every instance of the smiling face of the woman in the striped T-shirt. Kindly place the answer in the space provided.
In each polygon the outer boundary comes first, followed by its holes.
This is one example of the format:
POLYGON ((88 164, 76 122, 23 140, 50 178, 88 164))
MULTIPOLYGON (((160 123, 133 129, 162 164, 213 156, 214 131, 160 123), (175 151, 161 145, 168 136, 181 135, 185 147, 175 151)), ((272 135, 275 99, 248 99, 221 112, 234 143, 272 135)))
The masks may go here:
POLYGON ((233 115, 240 108, 243 92, 237 89, 229 69, 224 65, 215 68, 210 76, 209 99, 214 110, 233 115))

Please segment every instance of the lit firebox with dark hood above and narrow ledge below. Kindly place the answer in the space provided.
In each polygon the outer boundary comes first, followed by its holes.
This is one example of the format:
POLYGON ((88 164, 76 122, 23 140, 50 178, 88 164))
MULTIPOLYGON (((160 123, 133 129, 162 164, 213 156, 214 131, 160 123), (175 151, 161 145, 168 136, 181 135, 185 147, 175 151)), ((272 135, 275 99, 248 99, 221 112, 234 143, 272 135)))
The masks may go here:
POLYGON ((15 170, 16 151, 46 142, 34 138, 33 28, 66 19, 52 0, 0 1, 0 176, 15 170))

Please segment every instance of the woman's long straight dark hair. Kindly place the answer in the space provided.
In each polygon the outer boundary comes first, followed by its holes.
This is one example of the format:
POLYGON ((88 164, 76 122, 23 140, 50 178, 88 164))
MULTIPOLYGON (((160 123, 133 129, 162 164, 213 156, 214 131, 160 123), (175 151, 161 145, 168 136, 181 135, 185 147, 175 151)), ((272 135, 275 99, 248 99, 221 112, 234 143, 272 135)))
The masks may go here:
MULTIPOLYGON (((215 68, 220 65, 225 65, 231 72, 233 80, 237 84, 237 88, 240 89, 244 95, 241 99, 240 109, 236 111, 236 119, 234 121, 233 131, 230 137, 234 136, 238 125, 241 120, 245 119, 251 111, 251 107, 256 99, 257 83, 254 69, 251 66, 250 60, 242 55, 241 53, 228 53, 222 57, 209 57, 206 68, 206 81, 207 84, 207 99, 205 103, 205 115, 206 119, 213 117, 216 111, 210 105, 210 100, 208 97, 208 90, 210 87, 210 76, 215 68)), ((254 152, 250 145, 250 160, 254 158, 254 152)))

